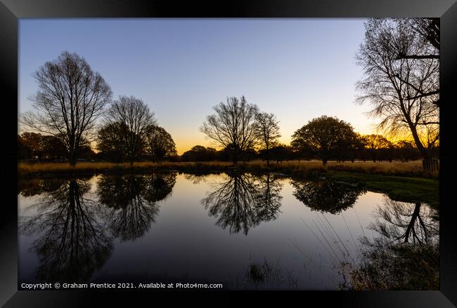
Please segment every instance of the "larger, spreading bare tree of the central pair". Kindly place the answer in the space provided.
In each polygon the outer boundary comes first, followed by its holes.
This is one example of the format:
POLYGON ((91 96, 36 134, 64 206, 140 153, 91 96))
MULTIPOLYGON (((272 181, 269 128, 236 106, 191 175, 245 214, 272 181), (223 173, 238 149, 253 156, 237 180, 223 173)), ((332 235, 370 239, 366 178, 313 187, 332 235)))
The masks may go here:
POLYGON ((237 163, 240 152, 255 145, 254 123, 259 109, 257 105, 248 104, 244 96, 240 100, 227 98, 226 104, 220 102, 213 109, 216 114, 207 116, 200 131, 219 147, 230 150, 233 163, 237 163))

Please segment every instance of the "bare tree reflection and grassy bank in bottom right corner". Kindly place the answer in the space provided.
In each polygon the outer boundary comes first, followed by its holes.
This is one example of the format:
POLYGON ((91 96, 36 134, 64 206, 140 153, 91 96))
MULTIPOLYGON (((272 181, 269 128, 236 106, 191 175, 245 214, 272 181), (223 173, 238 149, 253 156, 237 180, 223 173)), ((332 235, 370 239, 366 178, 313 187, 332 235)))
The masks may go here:
POLYGON ((385 198, 361 238, 359 265, 342 267, 343 288, 352 290, 439 289, 439 221, 423 203, 385 198))

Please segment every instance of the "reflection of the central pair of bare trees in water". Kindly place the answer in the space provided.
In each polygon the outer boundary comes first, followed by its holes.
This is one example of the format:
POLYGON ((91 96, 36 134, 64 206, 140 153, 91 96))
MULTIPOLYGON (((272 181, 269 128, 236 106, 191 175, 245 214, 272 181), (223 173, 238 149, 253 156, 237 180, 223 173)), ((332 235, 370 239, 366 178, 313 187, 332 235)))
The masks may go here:
POLYGON ((228 227, 231 234, 243 230, 247 235, 260 222, 278 217, 283 185, 277 176, 228 173, 224 178, 202 199, 209 215, 217 217, 217 225, 228 227))

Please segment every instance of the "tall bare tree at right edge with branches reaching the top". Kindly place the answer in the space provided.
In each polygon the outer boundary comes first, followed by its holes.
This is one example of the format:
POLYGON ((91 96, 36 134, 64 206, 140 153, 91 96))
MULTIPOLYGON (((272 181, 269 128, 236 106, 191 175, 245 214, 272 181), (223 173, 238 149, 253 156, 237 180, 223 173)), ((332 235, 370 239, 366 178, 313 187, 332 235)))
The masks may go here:
POLYGON ((405 54, 433 54, 411 27, 401 22, 373 18, 366 22, 366 34, 356 54, 364 69, 357 83, 357 101, 373 105, 371 115, 380 117, 380 130, 388 135, 411 135, 424 159, 424 171, 434 171, 433 150, 439 144, 439 61, 434 58, 398 59, 405 54))

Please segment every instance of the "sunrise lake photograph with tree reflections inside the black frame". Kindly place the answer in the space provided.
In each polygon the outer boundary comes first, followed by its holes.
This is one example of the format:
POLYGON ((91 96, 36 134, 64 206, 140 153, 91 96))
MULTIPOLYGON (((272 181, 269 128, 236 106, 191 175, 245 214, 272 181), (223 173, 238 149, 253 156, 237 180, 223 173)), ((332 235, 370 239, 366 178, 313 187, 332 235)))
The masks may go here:
POLYGON ((440 25, 19 19, 18 290, 440 290, 440 25))

